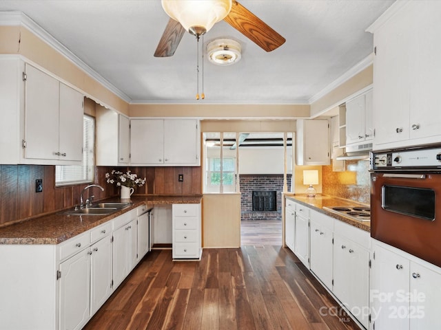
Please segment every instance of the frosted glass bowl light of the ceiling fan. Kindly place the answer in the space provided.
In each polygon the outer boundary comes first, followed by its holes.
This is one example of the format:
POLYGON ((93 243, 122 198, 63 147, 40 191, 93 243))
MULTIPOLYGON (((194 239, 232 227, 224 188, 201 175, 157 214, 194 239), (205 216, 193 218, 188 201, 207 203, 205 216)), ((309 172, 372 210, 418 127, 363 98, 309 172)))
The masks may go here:
POLYGON ((161 3, 168 16, 196 36, 208 32, 232 9, 232 0, 161 0, 161 3))

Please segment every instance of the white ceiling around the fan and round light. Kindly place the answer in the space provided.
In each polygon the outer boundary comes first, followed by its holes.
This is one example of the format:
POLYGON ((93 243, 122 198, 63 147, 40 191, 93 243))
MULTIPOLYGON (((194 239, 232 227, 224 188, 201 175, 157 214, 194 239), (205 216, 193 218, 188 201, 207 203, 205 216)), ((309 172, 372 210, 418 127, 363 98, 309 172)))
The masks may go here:
POLYGON ((239 2, 287 41, 267 53, 217 23, 204 45, 218 37, 235 39, 242 59, 220 67, 205 58, 205 100, 198 101, 194 36, 184 34, 172 57, 153 56, 169 19, 160 0, 0 0, 0 11, 26 14, 127 102, 302 104, 371 54, 373 38, 365 29, 394 0, 239 2))

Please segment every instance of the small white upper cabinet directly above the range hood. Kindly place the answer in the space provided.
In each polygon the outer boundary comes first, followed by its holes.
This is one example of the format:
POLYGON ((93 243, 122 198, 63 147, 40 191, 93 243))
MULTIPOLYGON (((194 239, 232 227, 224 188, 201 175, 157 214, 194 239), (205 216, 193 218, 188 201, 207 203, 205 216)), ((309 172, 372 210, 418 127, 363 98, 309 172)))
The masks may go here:
POLYGON ((372 90, 346 102, 346 145, 373 139, 372 90))

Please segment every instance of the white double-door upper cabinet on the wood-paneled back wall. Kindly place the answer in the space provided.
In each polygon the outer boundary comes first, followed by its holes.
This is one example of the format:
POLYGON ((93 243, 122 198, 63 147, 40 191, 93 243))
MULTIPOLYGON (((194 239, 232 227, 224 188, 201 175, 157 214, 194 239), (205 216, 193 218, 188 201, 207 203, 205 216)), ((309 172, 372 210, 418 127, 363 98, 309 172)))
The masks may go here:
POLYGON ((199 166, 201 137, 194 119, 132 119, 132 165, 199 166))

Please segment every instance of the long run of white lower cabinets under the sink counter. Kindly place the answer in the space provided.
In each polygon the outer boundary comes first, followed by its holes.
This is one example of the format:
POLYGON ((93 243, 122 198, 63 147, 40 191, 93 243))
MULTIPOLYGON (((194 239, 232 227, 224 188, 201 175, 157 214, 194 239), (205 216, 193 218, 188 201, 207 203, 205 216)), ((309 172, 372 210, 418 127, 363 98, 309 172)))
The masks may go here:
POLYGON ((0 329, 81 329, 141 259, 137 242, 148 232, 137 214, 58 245, 0 244, 0 329))

